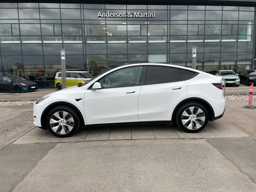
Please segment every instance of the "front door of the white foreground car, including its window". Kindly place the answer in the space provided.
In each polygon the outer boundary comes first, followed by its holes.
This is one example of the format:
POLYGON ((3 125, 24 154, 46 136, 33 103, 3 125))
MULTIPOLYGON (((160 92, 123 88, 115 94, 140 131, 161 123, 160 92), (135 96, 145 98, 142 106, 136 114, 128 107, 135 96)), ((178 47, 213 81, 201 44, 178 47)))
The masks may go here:
POLYGON ((116 70, 99 80, 102 88, 84 94, 88 124, 138 122, 141 66, 116 70))

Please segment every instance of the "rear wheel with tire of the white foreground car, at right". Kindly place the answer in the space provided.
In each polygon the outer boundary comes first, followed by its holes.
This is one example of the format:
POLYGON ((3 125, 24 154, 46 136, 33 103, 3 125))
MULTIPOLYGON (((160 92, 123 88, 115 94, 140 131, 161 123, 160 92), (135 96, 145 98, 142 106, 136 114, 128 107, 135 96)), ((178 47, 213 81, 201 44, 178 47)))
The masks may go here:
POLYGON ((188 102, 178 109, 176 123, 183 131, 199 132, 207 125, 208 118, 208 112, 202 104, 188 102))

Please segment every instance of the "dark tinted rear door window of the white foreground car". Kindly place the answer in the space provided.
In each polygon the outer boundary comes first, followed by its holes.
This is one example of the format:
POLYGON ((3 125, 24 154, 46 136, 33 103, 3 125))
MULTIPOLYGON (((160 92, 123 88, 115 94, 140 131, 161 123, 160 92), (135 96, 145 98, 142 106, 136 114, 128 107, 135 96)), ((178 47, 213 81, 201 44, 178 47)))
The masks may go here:
POLYGON ((173 67, 148 66, 145 84, 172 83, 180 81, 180 69, 173 67))

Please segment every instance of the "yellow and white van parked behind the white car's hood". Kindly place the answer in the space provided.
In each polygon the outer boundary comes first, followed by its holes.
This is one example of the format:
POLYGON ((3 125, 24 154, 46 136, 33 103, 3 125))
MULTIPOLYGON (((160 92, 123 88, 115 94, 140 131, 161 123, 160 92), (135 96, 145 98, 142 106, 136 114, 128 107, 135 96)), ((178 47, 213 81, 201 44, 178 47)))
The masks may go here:
MULTIPOLYGON (((66 86, 75 86, 77 84, 84 84, 86 81, 92 79, 92 75, 86 71, 67 71, 66 72, 66 86)), ((54 86, 57 90, 62 89, 61 72, 57 72, 54 79, 54 86)))

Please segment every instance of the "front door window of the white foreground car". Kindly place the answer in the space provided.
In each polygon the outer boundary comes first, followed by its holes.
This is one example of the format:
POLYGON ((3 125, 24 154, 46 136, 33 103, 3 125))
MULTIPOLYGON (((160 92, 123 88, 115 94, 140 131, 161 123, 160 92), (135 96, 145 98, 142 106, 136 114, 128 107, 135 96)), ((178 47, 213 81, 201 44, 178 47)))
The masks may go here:
POLYGON ((142 67, 129 67, 117 70, 100 79, 102 88, 136 86, 139 84, 142 67))

